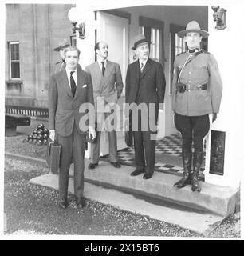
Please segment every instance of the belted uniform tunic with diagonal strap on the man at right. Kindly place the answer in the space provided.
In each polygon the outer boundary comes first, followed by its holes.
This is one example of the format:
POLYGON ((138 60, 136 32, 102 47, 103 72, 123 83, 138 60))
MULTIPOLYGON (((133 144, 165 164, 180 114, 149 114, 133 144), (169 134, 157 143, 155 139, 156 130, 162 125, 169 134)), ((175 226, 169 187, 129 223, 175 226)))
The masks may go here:
POLYGON ((175 113, 186 116, 218 113, 221 97, 222 79, 218 63, 212 54, 199 50, 192 54, 185 52, 175 57, 172 86, 172 109, 175 113), (186 61, 187 64, 184 66, 186 61), (186 90, 180 93, 177 91, 178 78, 179 82, 190 88, 207 84, 207 90, 186 90))

